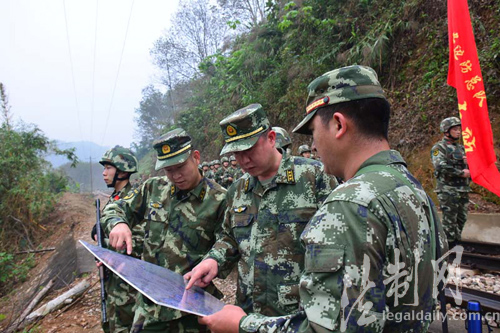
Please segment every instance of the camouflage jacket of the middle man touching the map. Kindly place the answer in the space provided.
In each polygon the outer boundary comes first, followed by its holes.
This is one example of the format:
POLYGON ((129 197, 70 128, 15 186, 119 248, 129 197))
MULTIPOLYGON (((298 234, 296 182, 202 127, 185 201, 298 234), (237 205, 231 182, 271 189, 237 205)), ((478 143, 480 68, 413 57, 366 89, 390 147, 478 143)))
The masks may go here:
POLYGON ((219 263, 219 277, 239 259, 236 302, 245 311, 274 316, 298 310, 300 234, 336 185, 320 163, 284 156, 265 188, 248 173, 229 188, 224 230, 207 257, 219 263))

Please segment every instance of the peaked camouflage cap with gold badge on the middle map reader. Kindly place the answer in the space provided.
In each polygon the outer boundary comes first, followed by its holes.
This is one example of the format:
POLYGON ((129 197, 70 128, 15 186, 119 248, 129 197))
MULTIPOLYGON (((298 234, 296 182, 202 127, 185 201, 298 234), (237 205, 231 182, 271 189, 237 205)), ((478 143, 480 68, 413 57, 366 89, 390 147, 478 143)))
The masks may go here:
POLYGON ((226 144, 220 154, 243 151, 253 147, 260 134, 269 127, 269 120, 260 104, 250 104, 232 113, 219 123, 226 144))

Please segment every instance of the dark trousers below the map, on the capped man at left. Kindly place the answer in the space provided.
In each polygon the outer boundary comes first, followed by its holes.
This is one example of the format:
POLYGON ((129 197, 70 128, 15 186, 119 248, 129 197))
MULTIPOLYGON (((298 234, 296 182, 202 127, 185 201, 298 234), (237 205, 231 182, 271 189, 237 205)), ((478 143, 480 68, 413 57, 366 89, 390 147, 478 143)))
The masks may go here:
POLYGON ((172 333, 205 333, 209 332, 204 325, 198 324, 198 317, 187 315, 179 319, 170 321, 157 321, 144 325, 145 317, 136 313, 134 326, 131 333, 153 333, 153 332, 172 332, 172 333))

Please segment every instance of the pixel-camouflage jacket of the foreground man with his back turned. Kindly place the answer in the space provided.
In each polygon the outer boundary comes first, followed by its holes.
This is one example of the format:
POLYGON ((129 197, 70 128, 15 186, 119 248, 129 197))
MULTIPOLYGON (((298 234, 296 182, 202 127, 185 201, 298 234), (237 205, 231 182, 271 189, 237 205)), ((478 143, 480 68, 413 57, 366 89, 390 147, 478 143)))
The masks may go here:
POLYGON ((434 217, 434 204, 397 151, 372 156, 328 196, 302 234, 301 311, 249 315, 241 331, 426 332, 435 304, 435 228, 441 258, 447 250, 434 217), (396 319, 411 312, 413 320, 396 319))

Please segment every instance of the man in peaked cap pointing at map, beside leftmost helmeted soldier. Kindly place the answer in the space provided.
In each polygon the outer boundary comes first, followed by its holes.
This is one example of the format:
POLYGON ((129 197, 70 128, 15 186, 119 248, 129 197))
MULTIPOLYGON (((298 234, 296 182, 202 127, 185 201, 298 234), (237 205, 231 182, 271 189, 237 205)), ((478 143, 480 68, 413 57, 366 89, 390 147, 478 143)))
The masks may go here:
MULTIPOLYGON (((142 186, 105 210, 105 223, 113 247, 126 245, 130 253, 130 227, 134 217, 143 221, 142 260, 185 274, 198 264, 221 231, 226 190, 198 170, 200 153, 183 129, 172 130, 154 141, 156 170, 166 177, 148 179, 142 186)), ((220 296, 214 285, 208 292, 220 296)), ((205 332, 196 316, 155 305, 138 295, 132 332, 205 332)))

